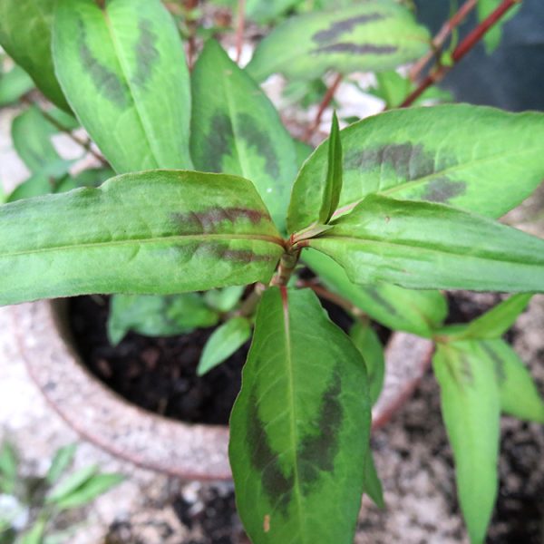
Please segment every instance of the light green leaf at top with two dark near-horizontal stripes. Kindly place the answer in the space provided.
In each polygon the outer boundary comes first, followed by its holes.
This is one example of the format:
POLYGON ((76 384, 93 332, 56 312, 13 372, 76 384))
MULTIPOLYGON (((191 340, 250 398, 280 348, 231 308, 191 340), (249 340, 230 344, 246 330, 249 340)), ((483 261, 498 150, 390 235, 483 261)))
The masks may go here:
POLYGON ((271 73, 312 79, 327 70, 380 72, 417 59, 429 41, 403 5, 369 0, 287 19, 258 44, 247 70, 257 81, 271 73))

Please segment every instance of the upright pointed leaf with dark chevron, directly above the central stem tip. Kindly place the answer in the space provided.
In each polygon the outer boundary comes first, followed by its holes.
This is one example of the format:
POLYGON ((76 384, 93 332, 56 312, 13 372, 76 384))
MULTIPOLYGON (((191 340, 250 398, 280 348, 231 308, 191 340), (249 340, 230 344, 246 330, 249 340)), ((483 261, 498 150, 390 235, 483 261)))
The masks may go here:
POLYGON ((198 170, 253 180, 285 229, 296 151, 264 92, 210 40, 192 73, 191 152, 198 170))

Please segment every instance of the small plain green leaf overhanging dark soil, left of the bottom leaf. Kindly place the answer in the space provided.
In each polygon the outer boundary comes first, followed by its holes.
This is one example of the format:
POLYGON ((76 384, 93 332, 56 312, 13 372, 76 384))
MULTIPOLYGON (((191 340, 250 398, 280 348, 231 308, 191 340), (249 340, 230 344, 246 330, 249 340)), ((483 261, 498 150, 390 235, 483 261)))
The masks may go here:
POLYGON ((219 326, 202 350, 197 375, 208 373, 236 353, 251 337, 251 325, 246 317, 233 317, 219 326))

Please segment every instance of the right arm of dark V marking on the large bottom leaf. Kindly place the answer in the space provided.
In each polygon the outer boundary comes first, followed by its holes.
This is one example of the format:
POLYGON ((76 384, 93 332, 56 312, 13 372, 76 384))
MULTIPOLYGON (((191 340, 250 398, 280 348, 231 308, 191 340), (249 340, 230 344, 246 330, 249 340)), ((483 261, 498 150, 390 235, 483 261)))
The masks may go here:
POLYGON ((306 436, 298 449, 297 471, 305 493, 319 479, 320 472, 332 472, 335 469, 335 456, 340 448, 338 433, 344 418, 341 392, 342 378, 336 366, 319 409, 318 434, 306 436))

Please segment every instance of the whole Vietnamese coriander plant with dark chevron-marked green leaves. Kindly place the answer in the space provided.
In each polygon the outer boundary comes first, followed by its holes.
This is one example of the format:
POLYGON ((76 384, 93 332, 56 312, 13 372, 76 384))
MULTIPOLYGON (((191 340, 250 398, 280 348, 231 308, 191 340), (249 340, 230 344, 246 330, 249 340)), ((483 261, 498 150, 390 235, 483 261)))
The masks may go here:
POLYGON ((49 121, 78 126, 74 115, 118 174, 73 189, 82 183, 53 160, 60 173, 30 191, 43 196, 0 206, 0 304, 112 294, 116 342, 130 328, 177 334, 222 320, 201 373, 253 335, 229 456, 257 544, 353 541, 362 494, 383 501, 369 449, 383 353, 368 316, 431 338, 461 510, 482 542, 500 413, 544 423, 501 339, 544 292, 544 240, 495 220, 544 178, 544 114, 437 105, 343 131, 334 118, 311 152, 259 82, 392 73, 430 50, 406 5, 342 4, 287 18, 246 69, 209 40, 189 73, 160 0, 0 0, 0 44, 57 106, 49 121), (446 289, 514 295, 444 326, 446 289), (350 335, 316 291, 354 316, 350 335))

